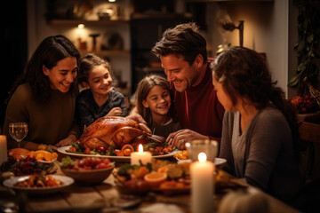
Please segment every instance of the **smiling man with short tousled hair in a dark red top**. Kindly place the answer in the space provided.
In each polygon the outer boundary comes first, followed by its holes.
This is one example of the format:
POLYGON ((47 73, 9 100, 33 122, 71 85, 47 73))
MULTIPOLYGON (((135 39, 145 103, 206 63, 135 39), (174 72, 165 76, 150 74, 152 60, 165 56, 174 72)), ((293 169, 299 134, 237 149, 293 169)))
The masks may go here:
POLYGON ((213 59, 207 59, 206 42, 195 23, 167 29, 152 53, 161 59, 172 84, 174 106, 182 130, 166 139, 180 149, 193 139, 220 142, 224 108, 212 85, 213 59))

